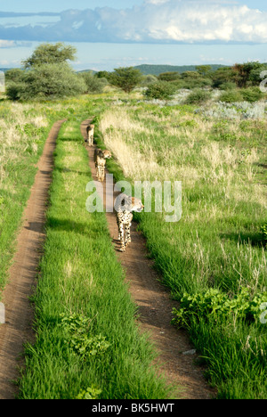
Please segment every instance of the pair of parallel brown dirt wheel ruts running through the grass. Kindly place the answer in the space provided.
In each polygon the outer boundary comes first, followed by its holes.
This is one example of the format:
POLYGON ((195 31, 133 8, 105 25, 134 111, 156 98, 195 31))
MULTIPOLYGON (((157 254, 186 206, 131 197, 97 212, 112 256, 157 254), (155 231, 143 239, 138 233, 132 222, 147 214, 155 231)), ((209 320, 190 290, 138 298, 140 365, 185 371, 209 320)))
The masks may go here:
MULTIPOLYGON (((28 298, 36 285, 36 269, 42 255, 41 249, 45 237, 45 210, 53 171, 53 151, 64 121, 60 120, 54 124, 39 160, 35 184, 24 211, 16 254, 9 271, 9 282, 1 300, 5 306, 6 323, 0 325, 0 399, 13 399, 17 394, 12 380, 18 378, 18 365, 23 364, 20 359, 23 344, 27 341, 34 342, 32 331, 34 315, 28 298)), ((89 119, 85 120, 81 125, 84 137, 89 122, 89 119)), ((94 147, 87 149, 93 179, 96 180, 93 164, 94 147)), ((103 185, 105 188, 105 183, 103 185)), ((107 213, 107 219, 114 248, 117 250, 116 217, 113 213, 107 213)), ((125 253, 117 250, 117 258, 125 268, 132 297, 139 307, 141 330, 150 333, 150 339, 158 349, 161 372, 178 388, 177 397, 211 398, 214 396, 214 390, 207 386, 201 369, 194 365, 197 356, 182 354, 192 347, 187 335, 170 325, 171 311, 176 303, 170 300, 168 292, 158 282, 158 274, 153 269, 153 262, 147 258, 145 241, 142 234, 136 231, 136 225, 132 226, 131 234, 131 245, 125 253)))

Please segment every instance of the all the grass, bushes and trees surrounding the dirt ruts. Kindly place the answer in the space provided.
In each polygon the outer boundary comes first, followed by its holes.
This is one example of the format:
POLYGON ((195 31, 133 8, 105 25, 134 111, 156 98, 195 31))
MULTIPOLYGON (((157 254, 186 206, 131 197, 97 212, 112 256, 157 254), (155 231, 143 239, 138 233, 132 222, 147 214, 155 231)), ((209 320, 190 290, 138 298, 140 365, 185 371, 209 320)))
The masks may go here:
POLYGON ((55 119, 69 120, 55 154, 36 344, 26 348, 20 398, 172 395, 138 334, 105 215, 85 210, 91 176, 79 126, 92 115, 117 180, 133 189, 134 181, 182 181, 179 222, 155 210, 135 215, 162 282, 180 301, 173 324, 188 331, 218 398, 265 398, 267 120, 259 84, 266 66, 76 74, 68 63, 74 50, 49 51, 54 61, 39 61, 46 53, 36 51, 23 70, 7 72, 8 98, 0 102, 2 288, 45 137, 55 119))

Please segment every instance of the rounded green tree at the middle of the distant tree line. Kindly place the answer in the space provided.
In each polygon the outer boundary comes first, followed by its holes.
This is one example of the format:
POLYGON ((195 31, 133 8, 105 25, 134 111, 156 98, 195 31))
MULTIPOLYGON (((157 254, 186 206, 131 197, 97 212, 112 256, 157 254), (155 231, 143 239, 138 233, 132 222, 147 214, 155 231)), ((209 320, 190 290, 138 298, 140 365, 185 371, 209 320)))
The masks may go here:
POLYGON ((142 72, 133 67, 117 68, 109 75, 109 83, 121 88, 125 93, 131 93, 142 80, 142 72))

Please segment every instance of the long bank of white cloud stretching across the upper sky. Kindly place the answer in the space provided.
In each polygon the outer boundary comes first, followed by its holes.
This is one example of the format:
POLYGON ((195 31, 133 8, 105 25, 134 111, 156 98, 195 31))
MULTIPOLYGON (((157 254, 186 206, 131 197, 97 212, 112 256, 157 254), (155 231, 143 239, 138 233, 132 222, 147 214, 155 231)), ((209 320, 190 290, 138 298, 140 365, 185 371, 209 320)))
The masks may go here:
POLYGON ((136 43, 267 43, 267 12, 231 0, 144 0, 117 10, 61 12, 46 27, 0 26, 4 39, 136 43))

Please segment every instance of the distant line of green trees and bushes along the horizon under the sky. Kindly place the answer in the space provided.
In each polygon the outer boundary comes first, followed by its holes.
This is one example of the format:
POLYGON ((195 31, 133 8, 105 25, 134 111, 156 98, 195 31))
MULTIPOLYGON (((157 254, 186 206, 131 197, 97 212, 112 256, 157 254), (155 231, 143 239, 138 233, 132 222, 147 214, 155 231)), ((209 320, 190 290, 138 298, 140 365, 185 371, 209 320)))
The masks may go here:
MULTIPOLYGON (((6 94, 12 100, 50 100, 77 94, 101 93, 104 86, 116 86, 130 93, 136 86, 147 87, 148 98, 167 98, 178 89, 219 88, 233 91, 256 88, 267 64, 247 62, 231 67, 198 65, 194 70, 166 71, 158 76, 143 75, 134 67, 114 71, 75 72, 70 61, 75 61, 76 48, 62 43, 39 45, 22 62, 22 69, 5 73, 6 94)), ((254 90, 255 91, 255 90, 254 90)))

